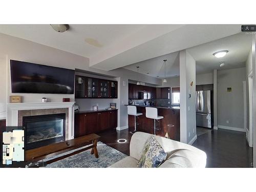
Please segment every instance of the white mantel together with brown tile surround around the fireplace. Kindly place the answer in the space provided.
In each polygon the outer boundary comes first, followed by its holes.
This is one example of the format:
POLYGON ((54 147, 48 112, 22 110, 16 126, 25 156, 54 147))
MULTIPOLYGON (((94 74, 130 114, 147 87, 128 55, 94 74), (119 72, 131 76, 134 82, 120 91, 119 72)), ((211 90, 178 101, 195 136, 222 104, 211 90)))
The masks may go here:
POLYGON ((66 114, 66 140, 74 138, 74 102, 8 103, 7 126, 22 126, 24 116, 66 114))

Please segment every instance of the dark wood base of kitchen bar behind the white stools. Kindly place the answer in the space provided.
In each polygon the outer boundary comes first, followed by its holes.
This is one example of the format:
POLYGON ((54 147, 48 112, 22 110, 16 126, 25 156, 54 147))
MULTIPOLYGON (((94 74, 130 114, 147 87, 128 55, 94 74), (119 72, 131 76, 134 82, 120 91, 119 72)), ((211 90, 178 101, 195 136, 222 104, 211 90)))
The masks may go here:
MULTIPOLYGON (((145 105, 135 105, 137 113, 142 115, 136 117, 137 131, 154 134, 154 119, 146 118, 145 105)), ((163 116, 159 122, 156 120, 156 135, 168 137, 180 141, 180 108, 177 106, 148 106, 158 109, 158 115, 163 116)), ((134 131, 134 116, 129 115, 129 131, 134 131)))

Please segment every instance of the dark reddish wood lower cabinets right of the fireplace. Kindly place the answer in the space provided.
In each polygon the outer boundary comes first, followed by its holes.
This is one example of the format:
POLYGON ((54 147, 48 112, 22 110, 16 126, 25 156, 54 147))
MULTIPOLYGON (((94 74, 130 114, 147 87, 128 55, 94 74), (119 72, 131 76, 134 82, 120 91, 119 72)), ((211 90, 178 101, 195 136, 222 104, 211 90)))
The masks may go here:
POLYGON ((117 127, 117 110, 75 114, 75 137, 117 127))

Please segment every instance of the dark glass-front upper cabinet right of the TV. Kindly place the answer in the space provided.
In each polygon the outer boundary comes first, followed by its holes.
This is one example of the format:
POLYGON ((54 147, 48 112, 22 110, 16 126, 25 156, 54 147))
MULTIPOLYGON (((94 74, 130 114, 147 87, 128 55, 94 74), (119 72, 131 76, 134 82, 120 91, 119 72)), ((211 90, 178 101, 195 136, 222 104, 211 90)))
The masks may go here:
POLYGON ((75 98, 117 98, 117 81, 76 75, 75 98))

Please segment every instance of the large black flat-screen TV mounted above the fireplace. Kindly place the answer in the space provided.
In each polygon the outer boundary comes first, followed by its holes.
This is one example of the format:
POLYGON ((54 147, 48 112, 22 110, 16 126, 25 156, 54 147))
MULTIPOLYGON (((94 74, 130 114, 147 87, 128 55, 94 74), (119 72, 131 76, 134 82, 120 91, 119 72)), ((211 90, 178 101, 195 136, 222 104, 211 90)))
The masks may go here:
POLYGON ((12 93, 74 94, 74 70, 10 61, 12 93))

